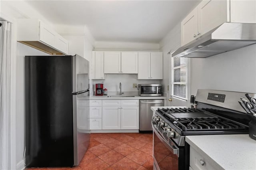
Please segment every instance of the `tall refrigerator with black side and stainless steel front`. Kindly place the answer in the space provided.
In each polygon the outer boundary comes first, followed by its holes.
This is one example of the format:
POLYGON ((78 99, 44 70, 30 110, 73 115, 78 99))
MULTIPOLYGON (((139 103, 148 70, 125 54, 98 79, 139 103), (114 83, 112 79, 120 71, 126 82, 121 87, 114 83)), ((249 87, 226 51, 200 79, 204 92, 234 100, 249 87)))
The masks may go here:
POLYGON ((25 56, 26 167, 78 165, 90 141, 89 62, 25 56))

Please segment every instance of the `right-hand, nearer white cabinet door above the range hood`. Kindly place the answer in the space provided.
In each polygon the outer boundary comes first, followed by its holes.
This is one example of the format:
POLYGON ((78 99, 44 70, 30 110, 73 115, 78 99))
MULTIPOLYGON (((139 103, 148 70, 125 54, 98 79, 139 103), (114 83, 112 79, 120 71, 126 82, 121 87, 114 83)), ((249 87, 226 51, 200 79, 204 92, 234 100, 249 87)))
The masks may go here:
POLYGON ((227 0, 204 0, 198 5, 198 36, 227 22, 227 0))

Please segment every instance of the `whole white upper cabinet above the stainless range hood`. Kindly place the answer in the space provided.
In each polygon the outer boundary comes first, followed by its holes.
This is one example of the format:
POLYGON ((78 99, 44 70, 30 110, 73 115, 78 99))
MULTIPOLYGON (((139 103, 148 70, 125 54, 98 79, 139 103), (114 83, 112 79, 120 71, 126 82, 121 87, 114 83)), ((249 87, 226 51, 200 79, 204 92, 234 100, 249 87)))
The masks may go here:
POLYGON ((181 22, 181 45, 224 22, 256 23, 256 1, 203 0, 181 22))

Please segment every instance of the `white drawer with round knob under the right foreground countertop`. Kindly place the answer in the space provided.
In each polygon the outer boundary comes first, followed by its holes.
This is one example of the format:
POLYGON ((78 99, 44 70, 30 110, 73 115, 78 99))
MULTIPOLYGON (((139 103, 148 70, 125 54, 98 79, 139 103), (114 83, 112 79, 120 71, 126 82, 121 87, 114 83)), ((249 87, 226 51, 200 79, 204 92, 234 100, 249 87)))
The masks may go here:
POLYGON ((203 158, 194 148, 190 147, 190 167, 193 170, 215 170, 215 168, 203 158))

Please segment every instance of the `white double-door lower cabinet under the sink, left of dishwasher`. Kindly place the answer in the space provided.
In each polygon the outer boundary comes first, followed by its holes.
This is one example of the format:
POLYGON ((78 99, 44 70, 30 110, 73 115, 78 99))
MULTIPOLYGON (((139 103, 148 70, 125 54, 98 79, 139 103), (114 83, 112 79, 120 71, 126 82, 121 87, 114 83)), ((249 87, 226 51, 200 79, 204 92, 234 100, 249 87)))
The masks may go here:
POLYGON ((139 100, 102 100, 102 129, 139 129, 139 100))

